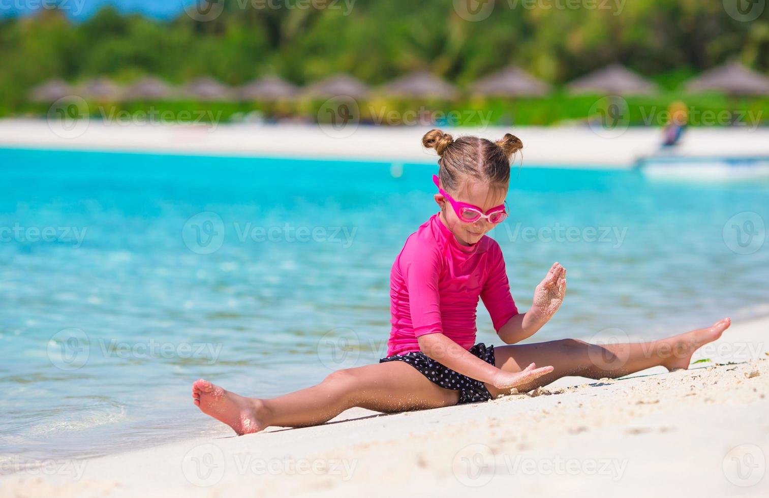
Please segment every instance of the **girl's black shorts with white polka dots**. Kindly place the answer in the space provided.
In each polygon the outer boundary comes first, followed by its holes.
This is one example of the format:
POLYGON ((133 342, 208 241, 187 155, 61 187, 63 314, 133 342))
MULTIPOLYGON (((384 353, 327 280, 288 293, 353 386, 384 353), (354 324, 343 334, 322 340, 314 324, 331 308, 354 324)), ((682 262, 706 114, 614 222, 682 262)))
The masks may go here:
MULTIPOLYGON (((483 343, 475 344, 470 348, 470 353, 488 364, 494 364, 494 346, 486 346, 483 343)), ((458 390, 459 401, 457 404, 481 403, 491 400, 491 393, 488 392, 488 389, 480 380, 471 379, 466 375, 454 372, 451 368, 444 367, 421 351, 382 358, 379 360, 379 363, 384 363, 385 361, 404 361, 411 365, 411 367, 419 370, 424 377, 427 377, 433 383, 437 383, 438 386, 458 390)))

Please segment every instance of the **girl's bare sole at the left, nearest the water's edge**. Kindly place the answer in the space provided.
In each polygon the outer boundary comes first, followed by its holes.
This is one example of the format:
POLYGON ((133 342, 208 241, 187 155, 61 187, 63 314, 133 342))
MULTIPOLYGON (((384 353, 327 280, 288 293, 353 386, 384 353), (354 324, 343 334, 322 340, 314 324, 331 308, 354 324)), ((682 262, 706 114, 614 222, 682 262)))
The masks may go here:
POLYGON ((208 380, 195 380, 192 384, 192 400, 203 413, 226 423, 238 436, 267 427, 258 417, 261 400, 238 396, 208 380))

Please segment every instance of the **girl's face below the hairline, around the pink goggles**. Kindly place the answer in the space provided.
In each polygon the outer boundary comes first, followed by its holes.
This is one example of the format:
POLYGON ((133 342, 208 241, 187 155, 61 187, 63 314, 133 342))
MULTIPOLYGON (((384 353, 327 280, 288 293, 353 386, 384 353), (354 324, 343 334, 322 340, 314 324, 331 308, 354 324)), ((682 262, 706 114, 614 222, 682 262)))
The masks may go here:
MULTIPOLYGON (((482 181, 465 181, 464 185, 460 185, 455 193, 447 192, 447 194, 451 195, 455 201, 474 204, 485 213, 504 203, 504 198, 508 197, 508 186, 504 185, 504 188, 500 188, 497 185, 491 186, 482 181)), ((435 194, 435 202, 441 207, 441 221, 462 245, 475 244, 488 231, 497 226, 484 217, 474 223, 461 221, 457 213, 454 212, 454 208, 451 208, 449 201, 441 194, 435 194)))

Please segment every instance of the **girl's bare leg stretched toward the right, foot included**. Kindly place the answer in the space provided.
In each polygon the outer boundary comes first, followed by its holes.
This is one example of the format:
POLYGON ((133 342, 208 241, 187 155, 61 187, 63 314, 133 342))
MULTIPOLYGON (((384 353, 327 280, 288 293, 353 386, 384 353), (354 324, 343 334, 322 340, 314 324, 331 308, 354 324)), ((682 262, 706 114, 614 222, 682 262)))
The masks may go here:
MULTIPOLYGON (((529 364, 538 367, 552 365, 554 370, 522 386, 519 391, 546 386, 561 377, 578 375, 591 379, 622 377, 651 367, 667 370, 688 368, 695 350, 721 337, 731 320, 725 318, 711 327, 691 330, 667 339, 647 343, 588 344, 581 340, 551 340, 537 344, 520 344, 494 347, 496 366, 508 372, 520 372, 529 364)), ((487 384, 496 397, 501 390, 487 384)))

